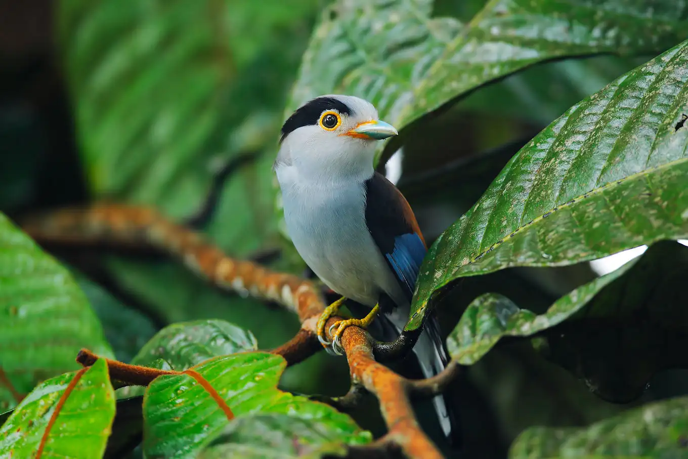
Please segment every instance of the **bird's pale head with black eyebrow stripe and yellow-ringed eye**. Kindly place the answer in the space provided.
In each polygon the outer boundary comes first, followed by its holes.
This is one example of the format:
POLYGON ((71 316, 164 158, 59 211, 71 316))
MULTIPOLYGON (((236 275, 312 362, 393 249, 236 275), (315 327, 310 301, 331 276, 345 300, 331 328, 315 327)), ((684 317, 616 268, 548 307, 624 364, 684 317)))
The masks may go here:
POLYGON ((369 178, 376 140, 397 134, 367 100, 320 96, 299 107, 282 126, 275 169, 279 175, 281 166, 295 167, 305 180, 369 178))

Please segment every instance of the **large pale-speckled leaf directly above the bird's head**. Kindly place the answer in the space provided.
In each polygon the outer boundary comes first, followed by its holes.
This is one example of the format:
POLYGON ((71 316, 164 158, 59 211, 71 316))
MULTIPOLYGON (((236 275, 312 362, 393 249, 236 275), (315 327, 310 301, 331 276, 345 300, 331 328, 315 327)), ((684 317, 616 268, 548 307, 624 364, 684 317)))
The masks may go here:
POLYGON ((355 94, 398 129, 475 87, 561 56, 659 52, 685 39, 672 0, 493 0, 466 24, 429 0, 337 1, 306 52, 288 111, 321 94, 355 94))

